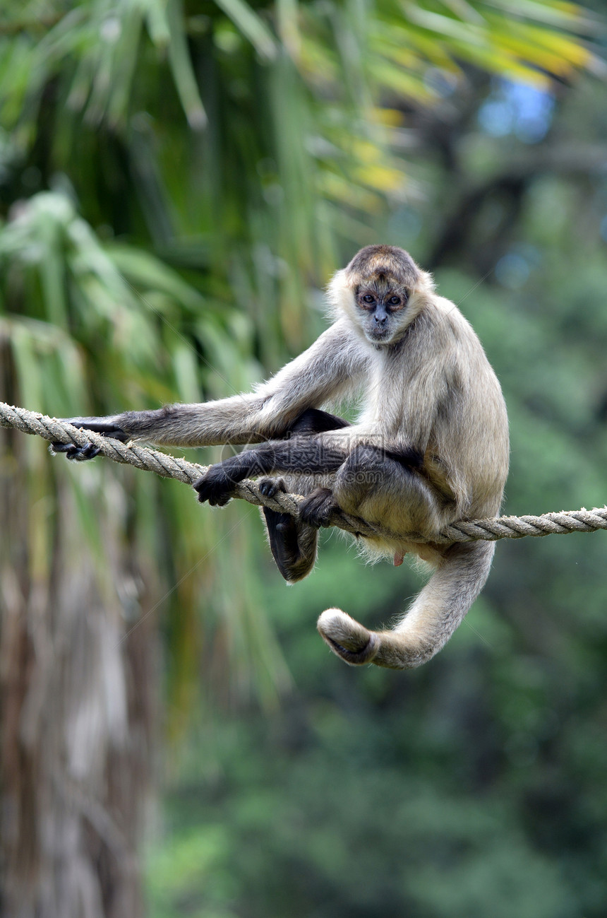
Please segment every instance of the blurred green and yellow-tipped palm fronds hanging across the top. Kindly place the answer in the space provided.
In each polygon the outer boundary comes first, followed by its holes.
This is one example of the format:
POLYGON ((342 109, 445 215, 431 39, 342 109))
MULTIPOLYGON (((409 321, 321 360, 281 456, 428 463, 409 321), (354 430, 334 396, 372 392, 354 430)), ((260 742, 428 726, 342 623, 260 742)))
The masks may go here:
POLYGON ((30 192, 69 174, 95 227, 208 268, 248 303, 267 364, 271 341, 301 345, 337 241, 369 241, 386 198, 418 195, 403 106, 465 86, 462 62, 543 85, 597 66, 575 37, 589 14, 547 0, 71 7, 6 6, 0 163, 30 192))

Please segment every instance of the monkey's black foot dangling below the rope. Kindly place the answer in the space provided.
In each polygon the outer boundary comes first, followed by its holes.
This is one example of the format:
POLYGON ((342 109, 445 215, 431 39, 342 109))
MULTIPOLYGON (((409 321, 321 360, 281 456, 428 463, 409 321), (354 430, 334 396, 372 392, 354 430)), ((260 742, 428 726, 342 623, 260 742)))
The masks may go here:
MULTIPOLYGON (((282 478, 263 478, 259 490, 266 497, 286 492, 282 478)), ((307 577, 315 565, 318 536, 315 529, 295 520, 289 513, 262 507, 268 528, 270 551, 282 577, 288 583, 307 577)))

